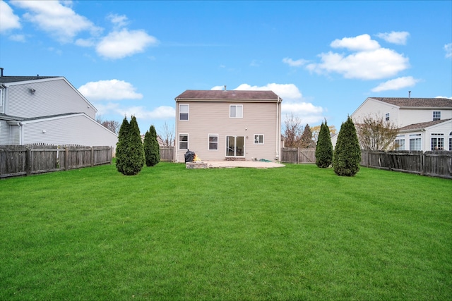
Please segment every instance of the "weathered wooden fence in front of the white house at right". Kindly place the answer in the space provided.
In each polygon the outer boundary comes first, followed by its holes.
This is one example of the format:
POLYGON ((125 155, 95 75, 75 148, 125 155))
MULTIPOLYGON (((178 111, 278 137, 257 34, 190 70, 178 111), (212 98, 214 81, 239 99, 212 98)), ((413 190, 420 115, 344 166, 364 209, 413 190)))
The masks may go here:
POLYGON ((452 179, 452 152, 450 151, 362 150, 361 165, 452 179))

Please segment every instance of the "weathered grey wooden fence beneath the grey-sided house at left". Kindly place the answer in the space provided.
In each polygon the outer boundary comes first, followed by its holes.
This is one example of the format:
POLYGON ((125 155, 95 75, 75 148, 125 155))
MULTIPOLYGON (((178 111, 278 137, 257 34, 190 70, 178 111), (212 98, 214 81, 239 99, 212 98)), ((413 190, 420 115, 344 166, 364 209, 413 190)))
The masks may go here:
POLYGON ((111 164, 111 147, 0 145, 0 178, 111 164))

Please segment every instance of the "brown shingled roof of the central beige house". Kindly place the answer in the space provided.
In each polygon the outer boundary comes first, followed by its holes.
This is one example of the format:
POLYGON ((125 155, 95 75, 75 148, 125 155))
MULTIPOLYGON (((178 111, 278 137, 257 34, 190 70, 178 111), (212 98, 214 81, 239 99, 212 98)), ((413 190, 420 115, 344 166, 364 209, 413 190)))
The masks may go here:
POLYGON ((176 101, 282 101, 273 91, 249 91, 249 90, 186 90, 176 101))

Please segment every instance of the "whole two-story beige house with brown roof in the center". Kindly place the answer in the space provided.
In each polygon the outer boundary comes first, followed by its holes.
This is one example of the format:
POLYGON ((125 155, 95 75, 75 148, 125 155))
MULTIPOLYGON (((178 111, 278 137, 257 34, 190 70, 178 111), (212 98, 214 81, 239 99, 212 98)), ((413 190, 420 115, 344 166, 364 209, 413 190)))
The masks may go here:
POLYGON ((281 102, 272 91, 186 90, 176 100, 175 161, 278 161, 281 102))

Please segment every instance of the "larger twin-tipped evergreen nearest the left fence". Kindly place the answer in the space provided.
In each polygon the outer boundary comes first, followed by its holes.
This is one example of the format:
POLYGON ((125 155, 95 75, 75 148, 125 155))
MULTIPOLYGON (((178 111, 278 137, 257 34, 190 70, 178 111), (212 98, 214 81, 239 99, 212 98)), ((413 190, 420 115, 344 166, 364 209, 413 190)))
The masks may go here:
POLYGON ((138 128, 135 116, 132 116, 129 125, 127 123, 127 118, 124 118, 119 129, 121 140, 118 139, 117 144, 117 169, 126 176, 133 176, 143 168, 145 157, 140 129, 138 128), (118 148, 120 151, 119 156, 118 148))

